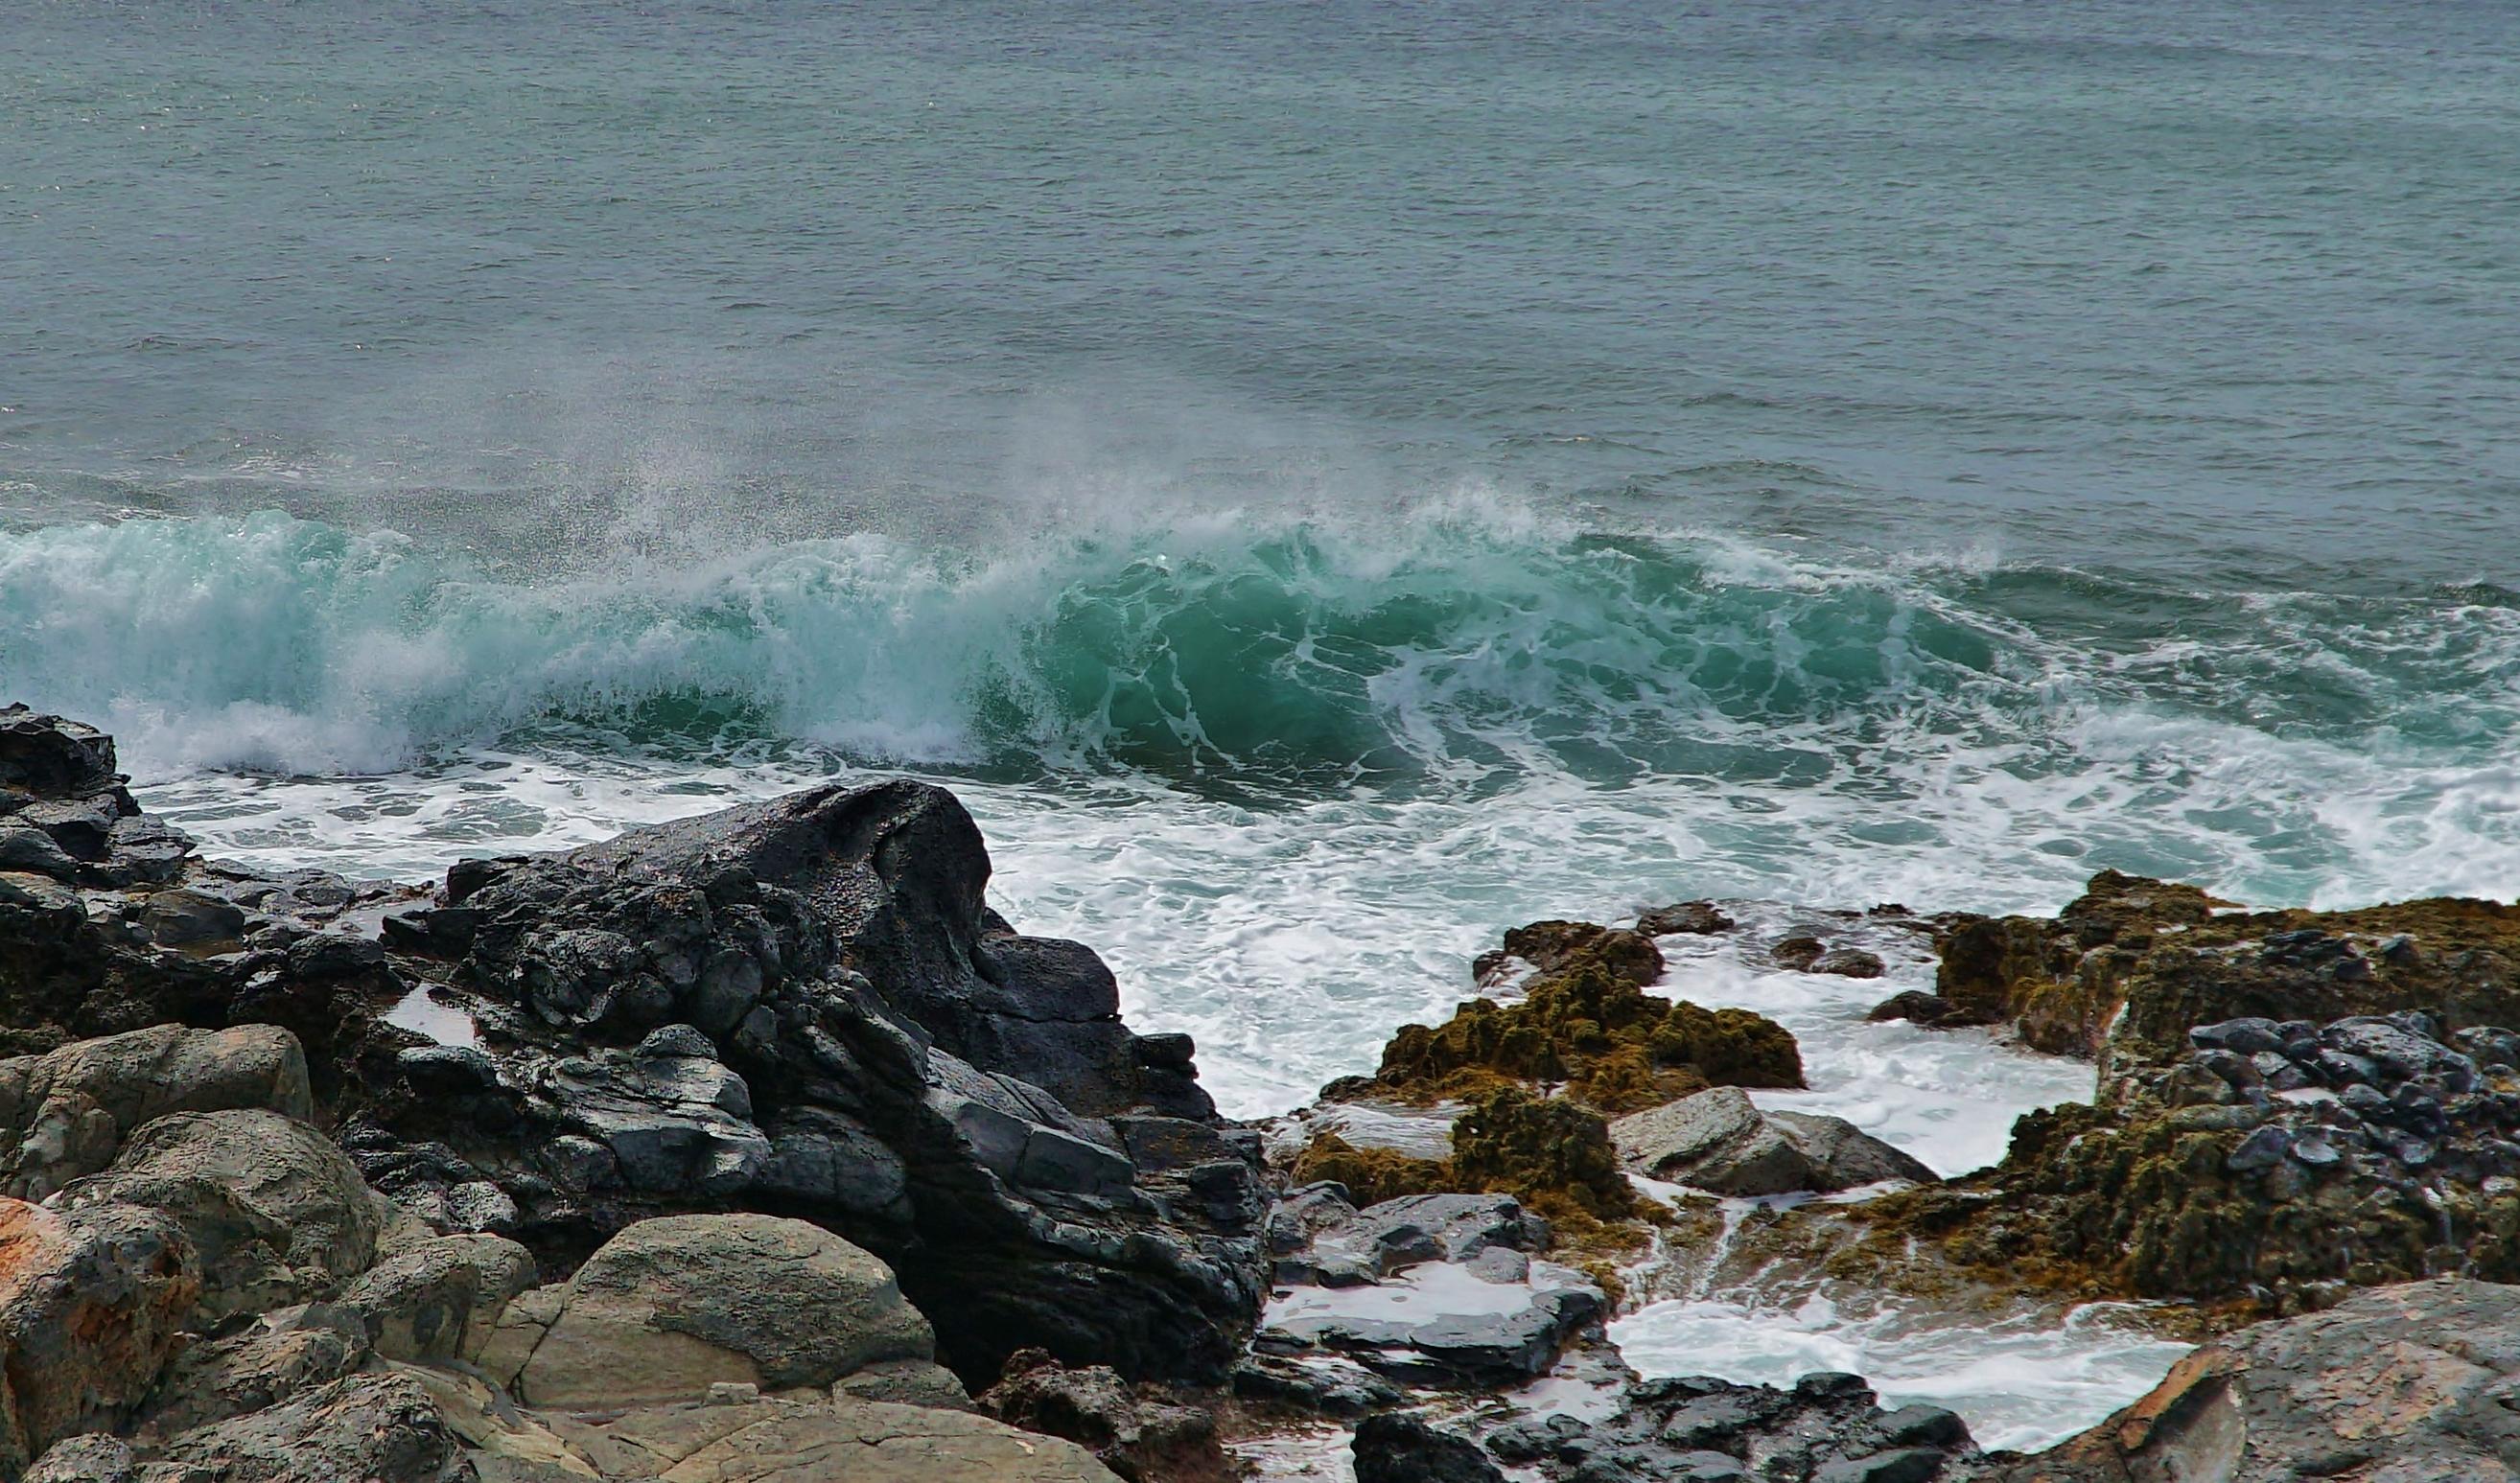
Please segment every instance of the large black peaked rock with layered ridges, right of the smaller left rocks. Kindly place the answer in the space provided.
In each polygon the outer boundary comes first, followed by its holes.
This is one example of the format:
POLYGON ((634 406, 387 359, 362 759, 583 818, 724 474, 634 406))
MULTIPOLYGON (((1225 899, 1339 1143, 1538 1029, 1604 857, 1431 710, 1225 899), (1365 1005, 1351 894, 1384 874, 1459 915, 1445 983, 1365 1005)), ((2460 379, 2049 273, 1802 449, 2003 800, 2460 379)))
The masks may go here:
POLYGON ((892 1261, 973 1382, 1026 1345, 1225 1380, 1260 1304, 1257 1141, 985 879, 917 783, 459 864, 388 934, 481 1055, 418 1063, 431 1090, 381 1098, 358 1158, 421 1211, 489 1186, 544 1264, 650 1216, 809 1216, 892 1261))

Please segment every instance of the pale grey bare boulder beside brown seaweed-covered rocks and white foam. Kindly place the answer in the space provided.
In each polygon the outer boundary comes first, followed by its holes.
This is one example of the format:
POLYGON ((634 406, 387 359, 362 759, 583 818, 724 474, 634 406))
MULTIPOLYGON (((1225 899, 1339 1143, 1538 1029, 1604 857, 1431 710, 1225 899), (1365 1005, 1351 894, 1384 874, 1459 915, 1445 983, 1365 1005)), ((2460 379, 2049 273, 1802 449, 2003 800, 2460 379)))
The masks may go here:
POLYGON ((1739 1088, 1714 1088, 1610 1123, 1620 1158, 1711 1193, 1835 1193, 1882 1181, 1933 1183, 1935 1173, 1847 1123, 1814 1113, 1761 1113, 1739 1088))

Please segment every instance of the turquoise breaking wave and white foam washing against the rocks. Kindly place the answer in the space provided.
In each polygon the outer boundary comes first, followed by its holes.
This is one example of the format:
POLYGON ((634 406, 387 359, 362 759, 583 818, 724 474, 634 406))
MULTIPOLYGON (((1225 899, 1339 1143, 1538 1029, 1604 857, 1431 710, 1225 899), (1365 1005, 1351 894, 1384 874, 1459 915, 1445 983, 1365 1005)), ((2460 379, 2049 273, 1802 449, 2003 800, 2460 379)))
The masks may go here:
MULTIPOLYGON (((1494 493, 1268 519, 567 582, 277 511, 40 526, 0 534, 0 690, 113 728, 149 808, 272 869, 428 879, 827 778, 940 781, 995 906, 1094 944, 1235 1115, 1371 1070, 1537 916, 1721 896, 1767 942, 1877 901, 2054 909, 2102 866, 2346 904, 2492 894, 2520 864, 2520 775, 2475 750, 2520 718, 2520 609, 2490 594, 1860 567, 1494 493), (2129 594, 2177 624, 2102 622, 2129 594)), ((1882 982, 1666 947, 1668 992, 1794 1030, 1812 1090, 1764 1103, 1940 1173, 2092 1090, 1983 1032, 1867 1022, 1930 984, 1900 934, 1872 942, 1882 982)), ((2182 1352, 2139 1314, 1756 1287, 1613 1337, 1648 1372, 1857 1370, 1988 1445, 2066 1435, 2182 1352)))

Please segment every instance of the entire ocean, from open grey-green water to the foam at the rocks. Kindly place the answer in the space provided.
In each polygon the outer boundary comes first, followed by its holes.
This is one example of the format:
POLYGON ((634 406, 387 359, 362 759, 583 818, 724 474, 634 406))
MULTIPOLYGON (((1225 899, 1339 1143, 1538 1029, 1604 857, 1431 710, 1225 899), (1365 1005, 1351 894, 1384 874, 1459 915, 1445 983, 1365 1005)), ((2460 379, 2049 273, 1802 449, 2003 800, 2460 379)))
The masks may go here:
POLYGON ((1537 916, 2520 889, 2510 5, 0 28, 0 697, 212 854, 917 773, 1240 1115, 1537 916))

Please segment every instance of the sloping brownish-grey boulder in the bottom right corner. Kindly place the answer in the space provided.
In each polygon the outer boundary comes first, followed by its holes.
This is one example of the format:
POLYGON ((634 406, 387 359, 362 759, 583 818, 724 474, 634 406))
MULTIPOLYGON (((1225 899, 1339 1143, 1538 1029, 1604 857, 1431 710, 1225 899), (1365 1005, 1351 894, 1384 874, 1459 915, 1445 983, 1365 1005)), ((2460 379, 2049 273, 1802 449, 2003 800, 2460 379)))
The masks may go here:
POLYGON ((1998 1483, 2520 1478, 2520 1289, 2442 1277, 2240 1329, 1998 1483))

